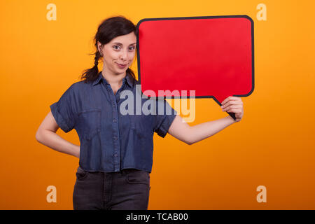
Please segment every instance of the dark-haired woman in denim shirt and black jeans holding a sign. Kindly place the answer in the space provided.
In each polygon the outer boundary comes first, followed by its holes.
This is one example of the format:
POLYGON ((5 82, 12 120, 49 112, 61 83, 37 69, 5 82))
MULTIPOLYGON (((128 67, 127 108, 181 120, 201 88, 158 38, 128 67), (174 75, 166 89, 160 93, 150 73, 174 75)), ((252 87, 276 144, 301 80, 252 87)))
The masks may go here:
POLYGON ((125 113, 125 93, 140 94, 129 68, 136 55, 137 29, 124 17, 108 18, 99 25, 94 44, 94 66, 50 106, 36 139, 80 159, 73 209, 148 209, 154 132, 160 137, 168 132, 194 144, 241 120, 242 102, 239 97, 228 97, 222 103, 223 111, 235 113, 237 120, 227 116, 195 126, 185 123, 165 100, 141 98, 140 109, 150 102, 163 113, 139 114, 139 105, 129 105, 131 113, 125 113), (101 58, 104 66, 99 72, 101 58), (59 137, 59 127, 64 132, 74 128, 80 146, 59 137))

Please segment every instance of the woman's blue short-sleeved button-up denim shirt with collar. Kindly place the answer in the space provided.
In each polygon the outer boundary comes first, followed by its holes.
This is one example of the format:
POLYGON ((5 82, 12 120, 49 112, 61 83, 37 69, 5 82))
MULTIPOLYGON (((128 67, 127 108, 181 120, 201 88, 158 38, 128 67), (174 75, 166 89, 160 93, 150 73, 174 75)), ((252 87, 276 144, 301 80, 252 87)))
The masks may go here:
POLYGON ((177 112, 165 99, 141 97, 139 85, 127 73, 123 85, 114 94, 111 85, 99 72, 94 82, 73 83, 59 101, 50 106, 52 115, 64 132, 74 128, 78 133, 79 165, 84 170, 119 172, 134 168, 151 173, 153 134, 156 132, 164 138, 177 112), (126 92, 132 92, 133 97, 127 97, 126 92), (127 99, 134 106, 126 106, 127 99), (146 115, 141 110, 142 106, 153 109, 155 113, 146 115), (130 113, 126 114, 125 109, 129 109, 130 113))

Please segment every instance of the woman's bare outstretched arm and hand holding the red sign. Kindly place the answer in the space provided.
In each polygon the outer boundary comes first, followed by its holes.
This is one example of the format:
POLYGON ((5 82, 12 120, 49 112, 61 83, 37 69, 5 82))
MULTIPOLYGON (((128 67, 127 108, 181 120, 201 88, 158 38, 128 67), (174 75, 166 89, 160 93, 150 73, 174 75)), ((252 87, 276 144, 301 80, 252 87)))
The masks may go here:
POLYGON ((237 120, 228 116, 218 120, 190 126, 183 120, 183 118, 181 118, 181 116, 177 115, 172 125, 169 127, 168 132, 176 139, 191 145, 197 141, 211 137, 233 123, 239 122, 244 114, 243 102, 241 102, 239 97, 228 97, 225 99, 222 102, 222 109, 223 111, 235 113, 237 120))

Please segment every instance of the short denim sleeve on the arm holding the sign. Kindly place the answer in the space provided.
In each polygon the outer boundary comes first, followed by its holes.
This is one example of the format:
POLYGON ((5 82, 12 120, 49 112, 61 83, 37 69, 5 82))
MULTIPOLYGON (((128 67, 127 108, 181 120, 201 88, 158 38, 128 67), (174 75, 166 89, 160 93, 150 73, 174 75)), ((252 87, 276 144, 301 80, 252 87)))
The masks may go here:
POLYGON ((165 99, 157 100, 157 113, 155 115, 154 132, 162 138, 167 134, 169 127, 177 115, 172 106, 165 99))

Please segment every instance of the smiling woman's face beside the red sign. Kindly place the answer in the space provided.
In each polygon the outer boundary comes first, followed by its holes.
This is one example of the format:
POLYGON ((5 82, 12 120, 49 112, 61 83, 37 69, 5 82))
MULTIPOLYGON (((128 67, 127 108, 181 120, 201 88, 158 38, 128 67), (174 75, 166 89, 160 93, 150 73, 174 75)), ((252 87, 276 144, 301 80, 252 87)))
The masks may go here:
POLYGON ((102 46, 97 43, 99 52, 103 55, 105 73, 118 75, 125 73, 134 60, 137 46, 137 36, 134 32, 113 38, 102 46))

